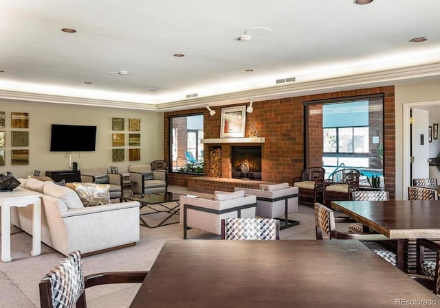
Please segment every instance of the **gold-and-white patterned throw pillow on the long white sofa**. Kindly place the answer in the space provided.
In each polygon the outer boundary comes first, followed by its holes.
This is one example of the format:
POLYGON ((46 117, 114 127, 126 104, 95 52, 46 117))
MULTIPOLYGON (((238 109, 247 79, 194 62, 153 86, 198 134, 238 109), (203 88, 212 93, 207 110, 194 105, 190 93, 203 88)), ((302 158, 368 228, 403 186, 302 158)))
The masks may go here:
POLYGON ((95 206, 110 203, 110 185, 73 182, 66 186, 74 189, 84 206, 95 206))

